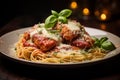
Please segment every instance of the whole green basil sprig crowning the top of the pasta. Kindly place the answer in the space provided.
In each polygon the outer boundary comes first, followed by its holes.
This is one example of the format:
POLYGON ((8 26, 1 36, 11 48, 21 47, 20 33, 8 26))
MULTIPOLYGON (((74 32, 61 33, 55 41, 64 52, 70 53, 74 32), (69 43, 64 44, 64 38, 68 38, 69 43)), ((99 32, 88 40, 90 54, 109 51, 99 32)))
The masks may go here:
POLYGON ((52 28, 57 22, 67 23, 67 17, 72 13, 70 9, 63 9, 59 13, 51 10, 52 15, 48 16, 45 20, 45 28, 52 28))

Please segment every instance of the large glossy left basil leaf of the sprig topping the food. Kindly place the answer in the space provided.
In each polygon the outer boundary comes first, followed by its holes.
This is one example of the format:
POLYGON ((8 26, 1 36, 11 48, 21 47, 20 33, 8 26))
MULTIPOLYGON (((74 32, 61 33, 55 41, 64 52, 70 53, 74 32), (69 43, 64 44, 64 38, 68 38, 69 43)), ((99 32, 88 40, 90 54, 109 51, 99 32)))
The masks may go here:
POLYGON ((46 20, 45 20, 45 28, 51 28, 54 27, 54 25, 57 22, 57 17, 54 15, 50 15, 46 20))

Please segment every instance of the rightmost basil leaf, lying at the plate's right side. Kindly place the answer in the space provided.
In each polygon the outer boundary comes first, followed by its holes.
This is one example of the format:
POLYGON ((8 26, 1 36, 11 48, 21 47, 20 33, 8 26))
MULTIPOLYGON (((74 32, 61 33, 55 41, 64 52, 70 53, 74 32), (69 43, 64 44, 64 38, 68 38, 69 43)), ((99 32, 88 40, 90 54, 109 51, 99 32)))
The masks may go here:
POLYGON ((101 44, 101 48, 111 51, 111 50, 114 50, 116 47, 114 46, 112 42, 105 41, 101 44))

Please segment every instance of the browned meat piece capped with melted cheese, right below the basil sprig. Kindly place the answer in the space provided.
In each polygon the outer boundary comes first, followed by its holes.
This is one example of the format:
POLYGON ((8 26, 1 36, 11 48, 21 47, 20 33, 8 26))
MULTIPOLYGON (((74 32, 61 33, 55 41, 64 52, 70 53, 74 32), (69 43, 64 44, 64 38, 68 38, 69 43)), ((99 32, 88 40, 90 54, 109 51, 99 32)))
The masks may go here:
POLYGON ((68 21, 67 24, 57 23, 55 29, 60 30, 63 41, 71 42, 80 35, 80 25, 75 21, 68 21))

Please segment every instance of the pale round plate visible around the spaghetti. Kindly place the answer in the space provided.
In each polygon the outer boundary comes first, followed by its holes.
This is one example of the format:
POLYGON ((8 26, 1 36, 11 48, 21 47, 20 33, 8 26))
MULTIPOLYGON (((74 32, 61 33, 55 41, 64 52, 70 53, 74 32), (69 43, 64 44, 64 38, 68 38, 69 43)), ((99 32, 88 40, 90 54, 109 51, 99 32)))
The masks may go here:
MULTIPOLYGON (((28 27, 30 28, 30 27, 28 27)), ((117 47, 117 49, 115 49, 114 51, 111 51, 108 55, 106 55, 104 58, 99 59, 99 60, 94 60, 94 61, 84 61, 84 62, 79 62, 79 63, 63 63, 63 64, 54 64, 54 63, 36 63, 36 62, 32 62, 32 61, 28 61, 28 60, 23 60, 23 59, 19 59, 15 56, 15 51, 14 51, 14 44, 18 41, 19 39, 19 34, 23 33, 24 31, 28 30, 28 28, 23 28, 23 29, 19 29, 19 30, 15 30, 12 32, 8 32, 6 34, 4 34, 3 36, 0 37, 0 52, 5 56, 8 57, 14 61, 18 61, 21 63, 25 63, 25 64, 30 64, 30 65, 34 65, 34 66, 44 66, 46 67, 46 65, 49 67, 50 66, 69 66, 70 65, 79 65, 79 66, 83 66, 85 64, 91 64, 91 63, 95 63, 95 62, 100 62, 109 58, 112 58, 113 56, 116 56, 120 53, 120 38, 112 33, 106 32, 106 31, 102 31, 99 29, 95 29, 95 28, 89 28, 89 27, 85 27, 86 31, 91 35, 91 36, 96 36, 96 37, 102 37, 102 36, 107 36, 109 38, 110 41, 113 42, 113 44, 115 44, 115 46, 117 47)))

